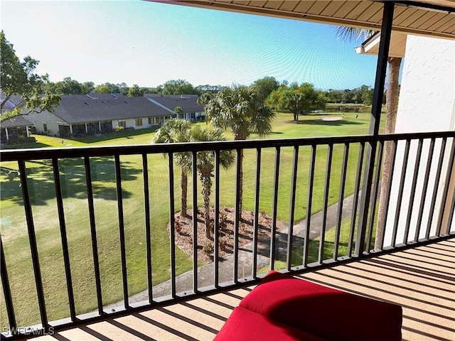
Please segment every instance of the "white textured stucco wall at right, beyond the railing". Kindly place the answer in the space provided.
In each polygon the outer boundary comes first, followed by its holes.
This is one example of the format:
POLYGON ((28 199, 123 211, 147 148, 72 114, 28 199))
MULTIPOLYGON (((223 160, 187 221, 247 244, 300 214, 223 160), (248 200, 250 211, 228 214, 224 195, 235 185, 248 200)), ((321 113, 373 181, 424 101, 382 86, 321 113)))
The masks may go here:
MULTIPOLYGON (((455 129, 455 41, 422 36, 407 36, 407 46, 402 70, 400 102, 398 105, 396 133, 414 133, 427 131, 449 131, 455 129)), ((446 162, 442 167, 441 180, 439 181, 437 202, 433 212, 431 234, 434 234, 436 222, 439 217, 441 205, 441 191, 446 185, 446 174, 451 144, 448 140, 445 156, 446 162)), ((402 205, 399 211, 399 224, 397 229, 396 244, 405 238, 405 224, 407 221, 408 207, 410 206, 412 178, 417 156, 418 143, 415 141, 410 146, 407 163, 405 188, 402 195, 402 205)), ((427 168, 429 142, 422 148, 421 160, 418 168, 417 187, 413 200, 412 215, 410 220, 409 240, 414 239, 419 206, 424 198, 424 211, 422 227, 419 238, 424 237, 429 220, 429 207, 432 201, 433 188, 437 173, 437 163, 441 141, 437 140, 434 148, 432 168, 429 176, 427 193, 423 193, 422 186, 424 173, 427 168)), ((395 169, 393 173, 392 193, 390 195, 389 212, 385 230, 384 246, 392 244, 392 229, 397 212, 399 181, 402 173, 405 143, 398 144, 395 169)), ((451 167, 454 167, 451 165, 451 167)), ((455 170, 454 170, 455 171, 455 170)), ((455 220, 451 225, 455 231, 455 220)))

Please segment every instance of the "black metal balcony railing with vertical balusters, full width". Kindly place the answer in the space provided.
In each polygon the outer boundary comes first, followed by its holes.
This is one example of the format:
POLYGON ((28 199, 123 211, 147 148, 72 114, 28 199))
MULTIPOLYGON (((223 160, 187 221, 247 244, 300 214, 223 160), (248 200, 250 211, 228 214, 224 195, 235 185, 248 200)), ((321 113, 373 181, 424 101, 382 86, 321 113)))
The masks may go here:
POLYGON ((112 310, 114 314, 119 310, 129 312, 240 283, 254 283, 267 269, 314 271, 449 238, 455 231, 454 139, 455 132, 449 131, 2 151, 2 173, 9 176, 8 183, 1 186, 2 200, 13 202, 2 207, 1 214, 5 302, 2 313, 6 311, 8 317, 7 324, 4 318, 1 323, 9 330, 4 335, 17 336, 18 327, 25 325, 46 331, 55 325, 77 325, 81 320, 104 318, 112 310), (377 235, 382 158, 387 144, 391 146, 391 171, 383 197, 384 219, 377 235), (227 171, 220 167, 220 152, 225 150, 237 155, 235 167, 227 171), (241 150, 245 153, 243 160, 241 150), (214 212, 211 267, 201 264, 198 256, 203 245, 198 245, 197 219, 192 222, 191 255, 182 256, 176 244, 176 199, 181 193, 173 156, 188 152, 193 157, 189 192, 192 215, 197 217, 201 197, 194 161, 200 151, 213 151, 215 156, 210 202, 214 212), (247 222, 252 232, 247 237, 243 235, 239 207, 241 170, 243 208, 252 211, 253 217, 247 222), (365 176, 365 172, 369 175, 365 176), (227 206, 233 207, 235 219, 231 254, 223 258, 220 210, 227 206), (18 215, 18 207, 25 212, 25 222, 6 227, 5 222, 20 221, 11 213, 18 215), (85 211, 87 215, 82 214, 85 211), (265 237, 259 235, 263 211, 271 217, 265 237), (105 234, 113 234, 112 227, 118 234, 109 239, 105 234), (88 237, 77 239, 75 231, 83 229, 88 237), (138 235, 143 239, 137 240, 138 235), (21 238, 21 243, 15 242, 21 238), (241 244, 241 238, 249 243, 241 244), (105 239, 102 244, 101 239, 105 239), (42 253, 41 248, 49 243, 59 244, 61 256, 49 258, 42 253), (82 252, 84 243, 90 244, 90 252, 82 252), (168 253, 157 255, 154 243, 166 243, 168 247, 164 249, 168 253), (87 255, 91 281, 83 286, 94 287, 91 298, 80 295, 80 283, 75 278, 77 262, 87 255), (21 292, 21 280, 14 277, 19 265, 14 262, 16 256, 26 259, 24 266, 31 263, 36 292, 21 292), (226 266, 227 257, 230 267, 226 266), (166 271, 160 270, 161 264, 166 271), (204 266, 210 274, 201 271, 204 266), (66 291, 57 301, 53 301, 47 287, 53 285, 53 278, 43 278, 49 276, 50 268, 61 269, 64 274, 64 278, 55 278, 58 284, 54 285, 61 292, 66 291), (104 278, 106 272, 115 272, 114 268, 119 277, 112 284, 104 278), (132 281, 132 271, 143 273, 144 281, 132 281), (141 288, 145 290, 144 301, 133 303, 132 295, 141 288), (23 305, 16 304, 27 295, 35 298, 37 320, 24 316, 22 308, 18 308, 23 305), (95 302, 92 310, 90 305, 80 308, 87 300, 95 302), (114 303, 115 308, 108 308, 109 303, 114 303), (55 305, 68 305, 68 314, 53 313, 55 305))

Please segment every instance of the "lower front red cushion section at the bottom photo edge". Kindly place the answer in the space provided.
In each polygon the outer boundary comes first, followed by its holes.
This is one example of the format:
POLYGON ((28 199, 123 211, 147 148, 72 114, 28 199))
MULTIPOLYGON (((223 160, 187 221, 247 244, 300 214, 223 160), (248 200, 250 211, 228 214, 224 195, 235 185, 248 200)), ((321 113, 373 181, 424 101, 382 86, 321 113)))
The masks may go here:
POLYGON ((221 328, 214 341, 323 341, 304 330, 292 328, 262 315, 237 307, 221 328))

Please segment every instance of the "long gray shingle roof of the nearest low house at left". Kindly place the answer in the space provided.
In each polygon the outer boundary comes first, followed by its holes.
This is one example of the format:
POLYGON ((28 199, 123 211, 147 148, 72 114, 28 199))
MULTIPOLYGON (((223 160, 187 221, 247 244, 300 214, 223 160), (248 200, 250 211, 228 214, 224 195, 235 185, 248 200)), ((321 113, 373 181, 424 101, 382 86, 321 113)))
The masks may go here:
POLYGON ((139 117, 169 116, 169 112, 144 97, 118 97, 97 94, 90 99, 85 94, 62 96, 54 114, 68 123, 135 119, 139 117))

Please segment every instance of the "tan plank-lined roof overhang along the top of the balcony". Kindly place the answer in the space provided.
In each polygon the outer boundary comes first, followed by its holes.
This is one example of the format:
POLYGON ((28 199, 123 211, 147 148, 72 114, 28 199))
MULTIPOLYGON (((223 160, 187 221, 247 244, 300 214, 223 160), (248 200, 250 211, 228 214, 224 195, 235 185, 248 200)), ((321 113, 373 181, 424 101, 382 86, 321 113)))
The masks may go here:
MULTIPOLYGON (((380 31, 382 1, 149 0, 380 31)), ((455 0, 395 1, 392 31, 455 39, 455 0)))

